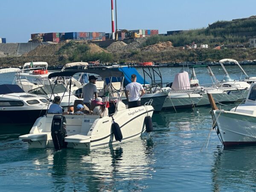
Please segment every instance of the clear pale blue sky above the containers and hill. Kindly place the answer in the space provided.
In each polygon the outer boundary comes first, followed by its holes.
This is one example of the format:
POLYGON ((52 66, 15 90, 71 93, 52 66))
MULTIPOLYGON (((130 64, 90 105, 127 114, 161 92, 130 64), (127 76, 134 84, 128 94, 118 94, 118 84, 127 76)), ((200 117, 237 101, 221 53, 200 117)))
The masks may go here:
MULTIPOLYGON (((160 34, 256 15, 256 0, 116 3, 118 29, 158 29, 160 34)), ((0 38, 7 43, 25 43, 30 34, 47 32, 111 32, 111 0, 1 0, 0 38)))

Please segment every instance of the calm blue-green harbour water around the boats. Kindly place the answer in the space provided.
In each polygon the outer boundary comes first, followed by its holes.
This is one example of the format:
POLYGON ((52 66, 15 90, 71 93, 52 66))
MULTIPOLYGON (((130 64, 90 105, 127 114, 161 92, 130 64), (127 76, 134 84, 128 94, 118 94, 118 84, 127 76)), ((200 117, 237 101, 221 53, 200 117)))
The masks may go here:
MULTIPOLYGON (((160 70, 172 81, 180 69, 160 70)), ((227 69, 240 75, 236 67, 227 69)), ((219 67, 212 70, 223 76, 219 67)), ((244 70, 256 76, 256 67, 244 70)), ((201 84, 210 82, 204 68, 196 72, 201 84)), ((12 79, 1 75, 0 84, 12 79)), ((256 147, 224 149, 215 130, 210 133, 209 108, 156 113, 152 120, 151 134, 91 151, 28 149, 17 137, 29 125, 0 125, 0 191, 256 190, 256 147)))

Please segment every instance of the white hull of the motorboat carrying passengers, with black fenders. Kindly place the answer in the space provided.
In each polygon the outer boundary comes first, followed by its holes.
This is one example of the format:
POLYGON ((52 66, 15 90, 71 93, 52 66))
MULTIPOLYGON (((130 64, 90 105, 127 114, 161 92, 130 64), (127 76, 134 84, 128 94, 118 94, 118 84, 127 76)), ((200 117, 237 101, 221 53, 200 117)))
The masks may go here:
MULTIPOLYGON (((140 137, 145 131, 144 119, 152 116, 154 108, 150 105, 117 111, 113 119, 119 124, 123 139, 140 137)), ((38 118, 29 134, 19 139, 28 142, 29 148, 54 147, 51 137, 51 123, 54 114, 38 118)), ((67 137, 65 142, 71 148, 96 148, 116 144, 111 128, 112 117, 99 118, 98 115, 64 115, 67 120, 67 137)))

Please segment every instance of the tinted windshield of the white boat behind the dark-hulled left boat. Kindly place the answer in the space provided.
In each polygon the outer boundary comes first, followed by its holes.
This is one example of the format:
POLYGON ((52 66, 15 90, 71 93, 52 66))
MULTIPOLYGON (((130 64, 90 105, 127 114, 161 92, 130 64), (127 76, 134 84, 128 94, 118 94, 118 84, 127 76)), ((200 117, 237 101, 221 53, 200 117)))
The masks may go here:
POLYGON ((36 95, 49 95, 52 93, 52 88, 54 87, 53 93, 64 93, 66 88, 63 84, 55 84, 54 85, 45 85, 42 87, 38 87, 29 91, 29 93, 36 95), (52 87, 51 87, 52 86, 52 87))

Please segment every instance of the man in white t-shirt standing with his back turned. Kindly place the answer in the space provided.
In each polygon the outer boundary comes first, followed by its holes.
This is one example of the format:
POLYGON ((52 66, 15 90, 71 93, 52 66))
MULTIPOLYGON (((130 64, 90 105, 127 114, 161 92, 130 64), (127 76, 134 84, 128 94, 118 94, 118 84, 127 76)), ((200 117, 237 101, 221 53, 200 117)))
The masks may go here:
POLYGON ((137 76, 135 74, 131 75, 131 83, 126 85, 126 95, 128 96, 128 108, 136 108, 141 106, 140 97, 145 94, 145 90, 142 84, 137 83, 137 76), (141 91, 141 94, 140 94, 141 91))

